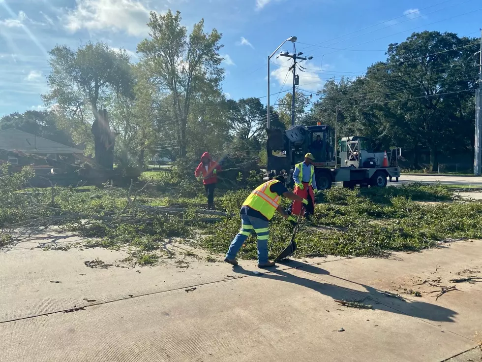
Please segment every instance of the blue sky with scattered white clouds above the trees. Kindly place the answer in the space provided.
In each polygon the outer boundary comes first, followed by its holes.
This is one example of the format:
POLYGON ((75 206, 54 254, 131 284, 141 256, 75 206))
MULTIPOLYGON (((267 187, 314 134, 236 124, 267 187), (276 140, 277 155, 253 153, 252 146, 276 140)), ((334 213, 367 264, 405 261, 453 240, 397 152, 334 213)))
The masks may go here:
MULTIPOLYGON (((479 37, 482 27, 480 0, 0 0, 0 116, 44 109, 48 52, 57 44, 103 41, 137 62, 150 11, 168 8, 181 11, 188 29, 204 18, 206 31, 223 34, 226 97, 265 103, 267 57, 291 36, 297 52, 313 57, 301 63, 299 88, 315 100, 328 79, 362 75, 413 32, 479 37)), ((293 43, 280 50, 293 52, 293 43)), ((287 62, 271 58, 271 105, 291 88, 287 62)))

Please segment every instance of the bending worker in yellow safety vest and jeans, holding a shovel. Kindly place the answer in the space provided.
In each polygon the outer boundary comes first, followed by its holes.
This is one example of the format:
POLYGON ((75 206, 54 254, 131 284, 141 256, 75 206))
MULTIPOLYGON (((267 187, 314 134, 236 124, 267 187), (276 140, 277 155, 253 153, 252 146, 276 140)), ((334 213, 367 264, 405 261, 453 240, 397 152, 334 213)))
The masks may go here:
POLYGON ((276 176, 272 180, 258 186, 246 200, 244 200, 240 210, 241 230, 229 246, 226 259, 224 259, 226 263, 238 265, 236 254, 238 254, 238 251, 250 233, 254 231, 258 238, 258 267, 266 268, 274 266, 274 262, 268 261, 269 221, 276 211, 294 226, 296 226, 297 221, 293 216, 288 215, 279 205, 281 196, 299 201, 300 203, 308 203, 308 201, 302 197, 289 192, 284 186, 284 183, 285 179, 283 176, 276 176))

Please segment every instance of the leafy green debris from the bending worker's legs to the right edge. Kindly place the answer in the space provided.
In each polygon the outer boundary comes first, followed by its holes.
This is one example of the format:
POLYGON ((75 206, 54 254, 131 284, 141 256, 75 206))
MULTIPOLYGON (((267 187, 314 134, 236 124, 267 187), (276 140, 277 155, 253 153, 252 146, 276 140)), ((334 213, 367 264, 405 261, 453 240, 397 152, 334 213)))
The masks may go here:
MULTIPOLYGON (((383 256, 395 250, 422 250, 448 238, 482 237, 481 202, 415 202, 451 199, 447 189, 436 186, 365 190, 333 188, 325 192, 311 221, 300 227, 295 256, 383 256), (316 229, 319 226, 330 228, 320 231, 316 229)), ((228 218, 218 223, 200 245, 212 252, 226 252, 239 227, 238 217, 228 218)), ((271 257, 287 246, 291 232, 290 224, 275 216, 270 228, 271 257)), ((248 238, 239 256, 256 258, 255 237, 248 238)))

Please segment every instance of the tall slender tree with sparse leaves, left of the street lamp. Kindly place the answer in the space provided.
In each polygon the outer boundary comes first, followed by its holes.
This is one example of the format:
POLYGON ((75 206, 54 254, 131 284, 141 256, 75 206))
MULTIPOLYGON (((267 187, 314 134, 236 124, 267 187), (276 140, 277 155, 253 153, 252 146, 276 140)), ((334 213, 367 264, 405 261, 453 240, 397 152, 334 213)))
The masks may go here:
POLYGON ((165 14, 151 12, 148 26, 150 38, 141 41, 137 51, 159 95, 169 95, 179 156, 185 157, 188 118, 194 99, 208 85, 220 92, 224 75, 220 67, 223 58, 219 55, 221 34, 215 29, 205 33, 201 20, 188 35, 186 27, 181 25, 181 13, 173 14, 171 10, 165 14))

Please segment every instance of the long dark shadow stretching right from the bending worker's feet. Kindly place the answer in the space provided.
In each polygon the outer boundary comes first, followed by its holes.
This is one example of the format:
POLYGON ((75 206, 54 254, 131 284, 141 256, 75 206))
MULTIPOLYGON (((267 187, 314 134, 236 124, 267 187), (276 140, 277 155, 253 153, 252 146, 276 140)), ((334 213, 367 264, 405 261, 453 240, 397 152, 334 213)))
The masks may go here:
MULTIPOLYGON (((453 318, 457 315, 457 312, 453 311, 452 309, 445 308, 440 305, 418 300, 400 300, 398 298, 386 296, 382 293, 382 291, 379 291, 373 287, 331 275, 328 270, 319 268, 315 265, 290 261, 289 266, 308 274, 312 274, 315 278, 320 278, 320 276, 327 275, 349 283, 357 284, 363 287, 365 291, 340 287, 327 281, 318 282, 311 279, 302 278, 276 268, 267 269, 266 273, 263 273, 259 276, 262 278, 297 284, 312 289, 325 296, 330 296, 336 300, 361 302, 364 299, 370 299, 370 301, 365 301, 364 303, 371 304, 375 310, 405 314, 411 317, 422 318, 429 321, 454 322, 453 318)), ((234 266, 233 271, 243 275, 255 276, 252 271, 245 270, 240 265, 234 266)))

